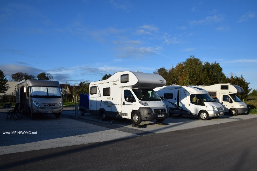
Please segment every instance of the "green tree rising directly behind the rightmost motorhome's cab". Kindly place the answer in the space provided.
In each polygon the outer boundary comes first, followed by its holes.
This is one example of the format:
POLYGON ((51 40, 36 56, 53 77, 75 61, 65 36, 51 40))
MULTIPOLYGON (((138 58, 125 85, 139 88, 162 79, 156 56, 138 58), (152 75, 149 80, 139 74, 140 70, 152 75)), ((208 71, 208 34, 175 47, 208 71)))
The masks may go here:
POLYGON ((251 89, 249 89, 249 84, 250 82, 246 82, 246 80, 244 79, 244 77, 241 75, 240 77, 238 77, 237 75, 233 76, 233 74, 230 74, 230 78, 226 78, 224 83, 230 83, 232 85, 237 85, 240 86, 244 89, 244 94, 240 94, 240 100, 246 100, 249 92, 251 91, 251 89))

